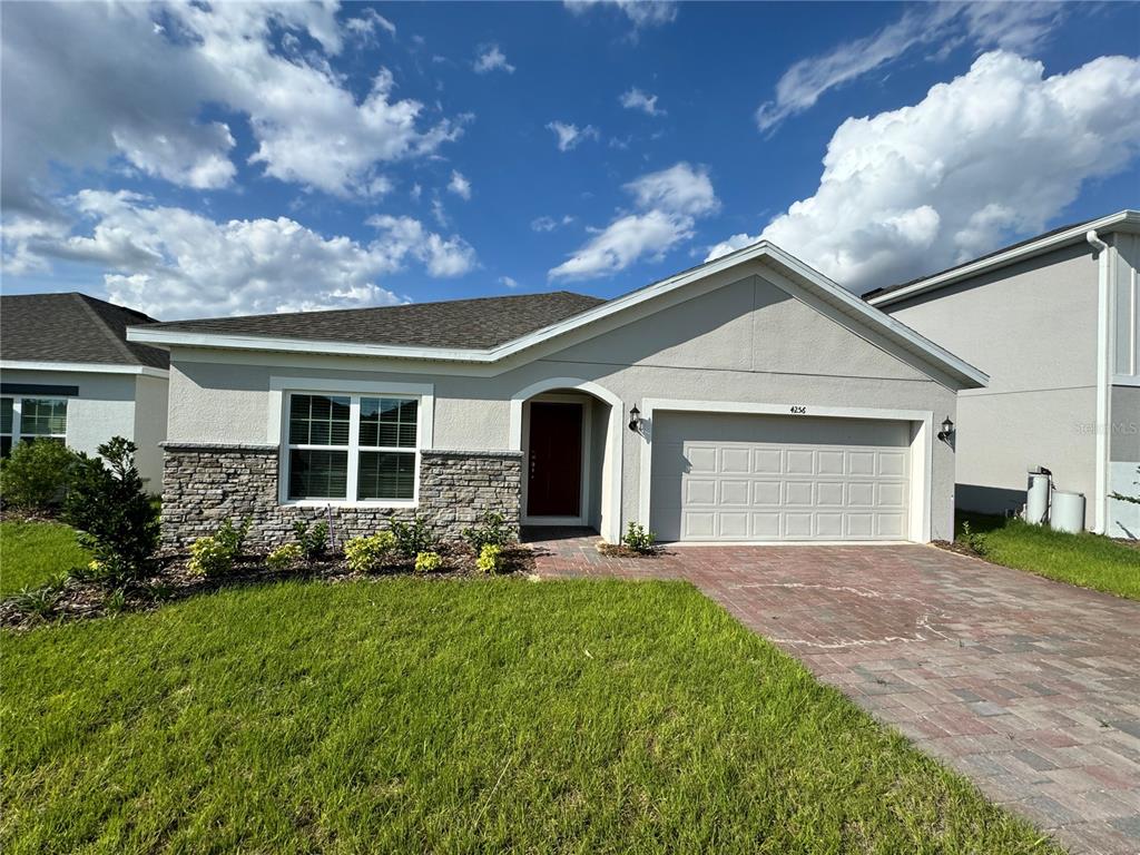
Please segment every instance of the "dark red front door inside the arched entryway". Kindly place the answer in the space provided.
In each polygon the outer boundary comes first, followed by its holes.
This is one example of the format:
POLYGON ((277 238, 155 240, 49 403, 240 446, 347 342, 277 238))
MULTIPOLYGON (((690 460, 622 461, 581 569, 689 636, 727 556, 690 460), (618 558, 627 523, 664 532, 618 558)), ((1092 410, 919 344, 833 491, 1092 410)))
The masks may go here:
POLYGON ((530 405, 527 514, 578 516, 581 512, 581 405, 530 405))

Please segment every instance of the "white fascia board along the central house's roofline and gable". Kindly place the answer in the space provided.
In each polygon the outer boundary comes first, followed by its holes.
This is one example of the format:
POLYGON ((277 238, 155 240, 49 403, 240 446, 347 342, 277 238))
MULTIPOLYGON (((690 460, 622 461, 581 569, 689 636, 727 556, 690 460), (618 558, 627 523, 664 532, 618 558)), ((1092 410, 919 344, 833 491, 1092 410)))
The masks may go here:
POLYGON ((521 336, 496 348, 475 350, 464 348, 418 348, 392 344, 359 344, 353 342, 312 341, 302 339, 278 339, 256 335, 229 335, 221 333, 192 333, 176 329, 148 329, 146 327, 128 327, 127 340, 146 344, 182 345, 196 348, 227 348, 237 350, 287 351, 294 353, 332 353, 336 356, 363 356, 394 359, 424 359, 432 361, 456 361, 490 364, 500 361, 520 351, 543 342, 556 339, 573 329, 578 329, 611 315, 640 306, 677 288, 714 276, 738 264, 754 260, 767 259, 779 267, 789 270, 807 286, 823 292, 832 303, 837 303, 853 317, 878 327, 888 336, 901 340, 915 355, 933 363, 951 376, 960 380, 967 386, 984 386, 988 376, 953 353, 939 348, 928 339, 922 337, 906 325, 869 306, 864 300, 840 287, 817 270, 808 267, 779 246, 767 242, 746 246, 719 259, 699 267, 670 276, 667 279, 648 285, 624 296, 589 309, 572 318, 543 327, 534 333, 521 336))

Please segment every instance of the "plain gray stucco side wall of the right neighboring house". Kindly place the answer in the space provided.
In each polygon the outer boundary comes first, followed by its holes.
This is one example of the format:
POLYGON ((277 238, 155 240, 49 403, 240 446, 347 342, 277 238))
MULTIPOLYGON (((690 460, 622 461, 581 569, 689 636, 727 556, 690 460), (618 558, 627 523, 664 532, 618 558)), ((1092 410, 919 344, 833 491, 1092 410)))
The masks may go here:
POLYGON ((959 396, 960 506, 1020 505, 1035 465, 1093 496, 1097 276, 1081 244, 883 307, 991 377, 959 396))

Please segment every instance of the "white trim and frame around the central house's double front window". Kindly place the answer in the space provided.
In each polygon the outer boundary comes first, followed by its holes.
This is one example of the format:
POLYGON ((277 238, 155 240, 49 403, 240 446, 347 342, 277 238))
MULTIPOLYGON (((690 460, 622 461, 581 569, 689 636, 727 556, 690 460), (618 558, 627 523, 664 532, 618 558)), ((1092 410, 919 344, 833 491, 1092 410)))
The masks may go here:
MULTIPOLYGON (((418 507, 420 505, 420 469, 422 453, 431 448, 434 422, 434 388, 423 383, 369 383, 366 381, 337 381, 311 377, 270 377, 270 410, 268 439, 277 446, 277 502, 279 505, 293 507, 418 507), (327 394, 349 398, 349 446, 311 446, 319 449, 344 449, 349 455, 349 474, 343 499, 312 498, 294 499, 288 496, 288 456, 295 448, 288 441, 288 408, 294 394, 327 394), (380 450, 392 450, 404 454, 415 454, 414 481, 410 499, 357 499, 357 478, 360 467, 360 399, 361 398, 400 398, 416 400, 416 446, 415 448, 377 447, 380 450), (352 440, 356 439, 356 445, 352 440), (355 455, 355 458, 353 458, 355 455)), ((308 447, 308 446, 307 446, 308 447)), ((375 450, 372 446, 364 450, 375 450)))

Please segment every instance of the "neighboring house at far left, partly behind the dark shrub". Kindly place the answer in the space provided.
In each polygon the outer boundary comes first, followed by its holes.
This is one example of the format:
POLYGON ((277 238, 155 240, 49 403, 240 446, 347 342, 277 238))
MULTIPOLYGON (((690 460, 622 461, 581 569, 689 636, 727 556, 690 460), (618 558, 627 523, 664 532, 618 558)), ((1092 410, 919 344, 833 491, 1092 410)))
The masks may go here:
POLYGON ((142 312, 85 294, 0 298, 0 451, 51 437, 96 454, 112 437, 139 447, 147 490, 162 490, 169 356, 128 342, 142 312))

